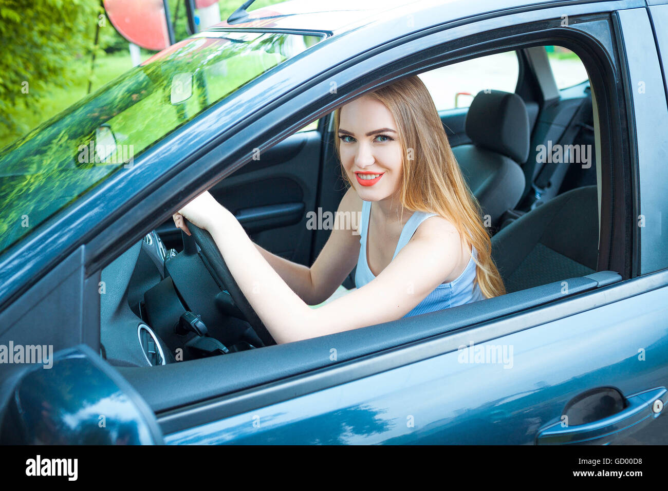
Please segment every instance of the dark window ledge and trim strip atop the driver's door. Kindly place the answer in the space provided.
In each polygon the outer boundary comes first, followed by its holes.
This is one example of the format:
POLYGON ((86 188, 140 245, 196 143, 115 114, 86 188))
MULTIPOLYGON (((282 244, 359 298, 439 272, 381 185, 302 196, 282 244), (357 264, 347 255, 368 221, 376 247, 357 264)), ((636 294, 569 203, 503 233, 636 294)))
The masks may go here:
MULTIPOLYGON (((365 363, 357 366, 354 363, 345 367, 346 373, 338 371, 335 374, 321 373, 317 381, 317 389, 328 387, 334 383, 343 383, 354 379, 359 379, 387 369, 387 367, 397 367, 403 364, 412 363, 428 357, 430 355, 447 353, 452 349, 453 342, 448 337, 441 337, 442 345, 434 347, 433 344, 419 343, 424 339, 442 336, 444 333, 450 333, 466 329, 474 325, 483 325, 494 319, 504 316, 512 316, 515 313, 530 312, 529 315, 516 315, 512 318, 512 323, 508 323, 512 331, 502 331, 506 334, 514 331, 520 331, 532 327, 538 323, 548 322, 554 319, 555 315, 564 316, 568 313, 579 313, 585 309, 601 305, 602 302, 611 303, 617 297, 610 297, 609 292, 600 291, 612 283, 620 281, 621 277, 612 271, 600 271, 587 277, 575 277, 564 279, 563 281, 554 281, 546 285, 540 285, 530 289, 516 291, 487 299, 486 301, 467 303, 451 307, 444 311, 431 313, 426 317, 410 317, 407 319, 397 319, 390 323, 382 323, 367 327, 365 329, 356 329, 355 331, 344 331, 329 336, 314 337, 305 339, 297 343, 285 343, 272 347, 271 350, 255 349, 235 353, 234 356, 210 357, 198 359, 188 363, 170 363, 160 371, 137 369, 135 367, 118 367, 120 373, 136 387, 144 399, 150 404, 152 409, 160 416, 160 424, 166 424, 165 432, 172 433, 184 428, 190 428, 193 421, 202 424, 219 419, 221 414, 231 415, 236 412, 243 412, 248 407, 257 407, 259 401, 246 399, 243 402, 242 409, 238 405, 226 399, 221 401, 220 405, 209 403, 201 405, 197 410, 186 411, 181 414, 178 409, 170 416, 166 414, 175 408, 183 407, 189 401, 204 401, 218 397, 220 395, 231 394, 248 387, 267 386, 268 383, 277 380, 277 373, 280 377, 291 377, 299 375, 305 371, 315 371, 330 367, 332 361, 339 363, 359 359, 373 353, 387 353, 387 350, 395 346, 413 345, 413 351, 407 353, 401 352, 392 360, 391 355, 373 359, 373 363, 365 363), (564 300, 564 284, 568 285, 567 295, 577 295, 582 293, 585 299, 581 303, 558 303, 550 305, 553 302, 564 300), (598 290, 598 291, 597 291, 598 290), (587 295, 587 292, 590 295, 587 295), (568 311, 572 308, 572 311, 568 311), (512 325, 511 325, 512 324, 512 325), (336 360, 331 359, 331 349, 335 347, 336 360), (267 367, 271 367, 268 370, 267 367), (382 367, 382 369, 379 369, 382 367), (218 372, 224 373, 223 379, 200 379, 200 373, 218 372), (190 381, 197 379, 197 384, 190 381), (178 390, 175 387, 180 387, 178 390), (230 409, 234 406, 234 410, 230 409), (213 406, 216 406, 213 409, 213 406), (222 407, 224 406, 224 409, 222 407), (168 423, 166 423, 168 421, 168 423)), ((627 285, 627 289, 616 291, 618 295, 629 297, 642 289, 637 289, 637 285, 627 285)), ((623 297, 620 297, 623 298, 623 297)), ((498 325, 494 329, 497 329, 498 325)), ((488 337, 492 337, 488 335, 488 337)), ((481 338, 482 339, 482 338, 481 338)), ((487 339, 487 338, 485 338, 487 339)), ((285 391, 292 397, 303 395, 310 391, 304 387, 313 387, 311 381, 303 383, 291 383, 289 387, 274 387, 271 395, 268 391, 261 391, 262 401, 265 405, 280 401, 285 398, 285 391), (297 389, 299 385, 299 389, 297 389), (270 399, 271 398, 271 399, 270 399)), ((255 395, 255 394, 254 394, 255 395)), ((261 404, 261 403, 260 403, 261 404)))

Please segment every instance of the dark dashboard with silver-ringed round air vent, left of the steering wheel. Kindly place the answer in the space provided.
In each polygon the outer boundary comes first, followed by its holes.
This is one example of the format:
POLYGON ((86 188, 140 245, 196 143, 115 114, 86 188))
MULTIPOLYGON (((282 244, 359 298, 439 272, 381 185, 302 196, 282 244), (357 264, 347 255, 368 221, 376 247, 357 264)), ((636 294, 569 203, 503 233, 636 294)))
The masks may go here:
POLYGON ((166 250, 154 230, 102 270, 100 355, 150 367, 227 355, 262 341, 196 251, 166 250))

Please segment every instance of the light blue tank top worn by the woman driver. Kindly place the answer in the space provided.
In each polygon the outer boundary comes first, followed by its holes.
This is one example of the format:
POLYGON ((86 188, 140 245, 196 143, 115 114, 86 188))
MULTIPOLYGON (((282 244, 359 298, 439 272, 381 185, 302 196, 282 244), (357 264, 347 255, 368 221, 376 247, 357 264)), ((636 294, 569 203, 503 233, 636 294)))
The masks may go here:
MULTIPOLYGON (((375 276, 371 273, 369 265, 367 264, 367 235, 369 231, 370 214, 371 201, 363 201, 361 221, 359 224, 359 259, 357 259, 357 269, 355 271, 355 287, 357 288, 361 288, 369 283, 369 281, 375 279, 375 276)), ((399 236, 399 242, 397 242, 397 248, 394 251, 392 260, 394 260, 399 251, 401 251, 401 248, 408 243, 415 233, 415 230, 418 229, 418 226, 420 226, 424 220, 436 214, 438 213, 413 212, 401 230, 401 236, 399 236)), ((475 255, 476 259, 478 259, 478 251, 476 251, 476 248, 473 247, 473 245, 471 247, 472 253, 475 255)), ((404 317, 411 317, 413 315, 420 315, 448 309, 449 307, 456 307, 457 305, 462 305, 464 303, 483 300, 484 295, 482 295, 482 291, 480 291, 480 286, 476 284, 474 290, 473 281, 475 278, 476 262, 473 260, 473 257, 471 257, 468 261, 468 265, 466 265, 466 268, 462 271, 462 274, 458 279, 451 281, 450 283, 441 283, 438 285, 432 293, 427 295, 422 302, 418 303, 418 305, 404 317)))

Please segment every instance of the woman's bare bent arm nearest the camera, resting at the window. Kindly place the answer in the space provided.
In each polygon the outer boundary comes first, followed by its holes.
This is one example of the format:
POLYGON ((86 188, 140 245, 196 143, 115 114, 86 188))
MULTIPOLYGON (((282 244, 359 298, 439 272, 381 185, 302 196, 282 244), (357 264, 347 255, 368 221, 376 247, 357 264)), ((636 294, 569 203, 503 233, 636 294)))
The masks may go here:
POLYGON ((277 343, 399 319, 440 285, 461 259, 459 234, 443 218, 433 216, 377 278, 311 309, 267 263, 234 215, 212 196, 196 198, 179 213, 206 226, 239 288, 277 343))

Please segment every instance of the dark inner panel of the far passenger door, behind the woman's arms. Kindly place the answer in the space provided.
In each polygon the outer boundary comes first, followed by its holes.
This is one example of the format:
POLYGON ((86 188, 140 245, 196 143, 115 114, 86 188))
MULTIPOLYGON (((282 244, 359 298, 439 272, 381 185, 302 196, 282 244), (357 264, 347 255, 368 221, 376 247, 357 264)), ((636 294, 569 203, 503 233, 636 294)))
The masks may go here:
MULTIPOLYGON (((306 212, 315 210, 320 173, 321 138, 317 131, 299 132, 257 155, 257 160, 216 184, 210 193, 242 224, 253 242, 295 263, 310 265, 315 230, 306 212)), ((173 220, 158 234, 166 247, 182 249, 173 220)))

